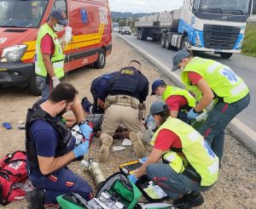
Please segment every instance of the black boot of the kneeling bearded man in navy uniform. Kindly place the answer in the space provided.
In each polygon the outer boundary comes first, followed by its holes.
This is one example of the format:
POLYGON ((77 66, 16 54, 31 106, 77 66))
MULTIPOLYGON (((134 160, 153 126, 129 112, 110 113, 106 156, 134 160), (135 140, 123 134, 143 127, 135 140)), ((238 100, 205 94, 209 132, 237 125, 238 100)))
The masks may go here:
POLYGON ((42 189, 33 189, 26 192, 28 209, 44 209, 45 194, 42 189))

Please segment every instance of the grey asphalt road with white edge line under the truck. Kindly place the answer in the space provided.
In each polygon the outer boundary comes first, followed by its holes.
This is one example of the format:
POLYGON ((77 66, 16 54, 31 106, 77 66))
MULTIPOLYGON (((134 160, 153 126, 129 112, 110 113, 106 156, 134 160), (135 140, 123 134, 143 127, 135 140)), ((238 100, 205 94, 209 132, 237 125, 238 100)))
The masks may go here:
MULTIPOLYGON (((165 71, 167 68, 172 68, 172 55, 175 51, 161 48, 160 42, 153 42, 149 38, 147 42, 140 41, 137 40, 136 36, 129 35, 120 35, 120 37, 124 38, 128 43, 130 42, 133 47, 146 52, 146 55, 156 59, 161 65, 166 66, 165 71)), ((246 110, 243 110, 236 116, 234 121, 236 127, 240 127, 240 129, 247 133, 247 135, 254 138, 254 136, 256 136, 256 114, 254 111, 256 110, 256 59, 241 54, 233 54, 230 59, 221 59, 218 54, 212 53, 200 53, 198 55, 207 59, 215 59, 224 65, 230 66, 230 68, 247 83, 247 86, 250 88, 251 102, 246 110)), ((170 76, 170 73, 167 72, 167 74, 170 76)), ((179 80, 180 71, 172 73, 171 76, 174 76, 174 80, 179 80)), ((236 127, 233 128, 234 132, 237 132, 236 127)), ((240 135, 240 137, 242 136, 240 135)), ((256 142, 255 139, 256 138, 253 139, 254 145, 256 142)))

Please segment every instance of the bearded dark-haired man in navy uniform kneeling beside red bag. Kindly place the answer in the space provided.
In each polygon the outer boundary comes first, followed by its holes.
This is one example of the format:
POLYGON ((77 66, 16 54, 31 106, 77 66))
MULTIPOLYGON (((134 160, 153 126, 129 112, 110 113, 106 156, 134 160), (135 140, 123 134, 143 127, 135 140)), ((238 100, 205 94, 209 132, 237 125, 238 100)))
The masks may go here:
POLYGON ((68 169, 67 164, 89 149, 89 141, 74 148, 75 138, 61 117, 73 110, 80 131, 90 138, 92 129, 84 122, 84 112, 77 100, 78 91, 61 83, 28 109, 26 116, 26 165, 32 184, 37 189, 27 192, 28 208, 44 208, 57 204, 56 196, 76 192, 86 200, 92 197, 90 185, 68 169))

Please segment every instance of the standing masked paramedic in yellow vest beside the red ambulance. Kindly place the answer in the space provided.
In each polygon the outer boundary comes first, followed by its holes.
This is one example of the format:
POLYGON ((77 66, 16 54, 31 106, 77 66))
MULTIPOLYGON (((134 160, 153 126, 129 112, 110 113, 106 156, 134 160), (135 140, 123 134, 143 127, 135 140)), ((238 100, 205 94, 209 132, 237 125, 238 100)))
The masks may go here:
POLYGON ((53 9, 47 23, 38 31, 36 42, 35 72, 42 88, 42 98, 60 83, 64 76, 64 58, 61 42, 56 32, 62 31, 68 24, 66 14, 59 8, 53 9))

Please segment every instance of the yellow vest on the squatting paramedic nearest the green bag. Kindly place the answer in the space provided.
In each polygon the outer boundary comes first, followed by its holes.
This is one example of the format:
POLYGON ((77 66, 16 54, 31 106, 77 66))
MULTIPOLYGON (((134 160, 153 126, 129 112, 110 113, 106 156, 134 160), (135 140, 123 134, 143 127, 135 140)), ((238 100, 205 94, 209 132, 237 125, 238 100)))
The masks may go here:
POLYGON ((218 180, 218 156, 214 154, 200 133, 187 123, 177 118, 168 117, 154 133, 151 141, 153 146, 162 129, 176 133, 182 143, 183 156, 172 150, 163 155, 163 158, 170 162, 169 165, 175 172, 182 173, 189 162, 189 165, 194 167, 201 176, 201 186, 210 186, 218 180))

